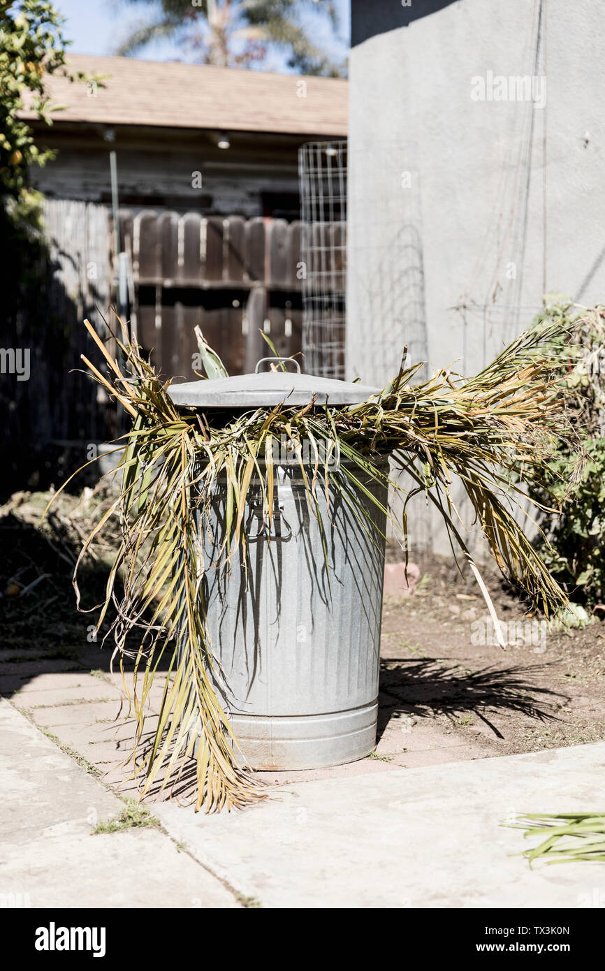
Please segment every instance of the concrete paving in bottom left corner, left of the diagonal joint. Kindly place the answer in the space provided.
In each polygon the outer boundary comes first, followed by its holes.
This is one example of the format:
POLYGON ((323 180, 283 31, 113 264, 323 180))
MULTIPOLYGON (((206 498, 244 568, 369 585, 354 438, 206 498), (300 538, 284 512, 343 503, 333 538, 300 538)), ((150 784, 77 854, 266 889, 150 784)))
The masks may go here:
POLYGON ((239 906, 160 830, 93 835, 122 803, 5 700, 0 738, 0 895, 30 907, 239 906))

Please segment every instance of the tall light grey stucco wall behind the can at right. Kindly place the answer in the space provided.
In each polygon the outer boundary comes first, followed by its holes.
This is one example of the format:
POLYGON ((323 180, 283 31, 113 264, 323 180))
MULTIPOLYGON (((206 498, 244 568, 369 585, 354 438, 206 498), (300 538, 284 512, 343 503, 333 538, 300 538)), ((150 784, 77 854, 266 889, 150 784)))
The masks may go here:
MULTIPOLYGON (((605 302, 602 0, 353 0, 352 37, 348 377, 386 383, 404 343, 471 374, 544 292, 605 302)), ((412 555, 448 552, 412 519, 412 555)))

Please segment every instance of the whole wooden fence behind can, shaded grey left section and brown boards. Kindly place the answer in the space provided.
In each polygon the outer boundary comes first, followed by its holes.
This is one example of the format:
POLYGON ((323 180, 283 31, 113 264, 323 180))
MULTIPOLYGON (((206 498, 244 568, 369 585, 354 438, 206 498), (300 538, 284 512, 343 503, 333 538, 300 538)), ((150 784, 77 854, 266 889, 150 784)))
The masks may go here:
MULTIPOLYGON (((29 381, 4 376, 1 395, 11 409, 2 440, 16 481, 23 469, 43 465, 60 481, 54 457, 39 457, 50 443, 54 452, 58 446, 65 455, 74 448, 84 454, 88 444, 123 430, 115 405, 82 373, 81 361, 82 353, 95 362, 100 356, 83 318, 108 340, 103 317, 117 302, 111 211, 48 200, 45 221, 48 258, 18 320, 2 328, 3 347, 31 351, 29 381)), ((153 363, 177 381, 196 377, 195 324, 230 374, 252 371, 269 352, 260 331, 280 354, 300 352, 305 273, 342 284, 344 268, 324 256, 335 250, 330 234, 342 231, 337 224, 314 225, 318 265, 306 266, 299 221, 124 209, 119 223, 121 249, 130 253, 129 317, 153 363)), ((76 467, 71 457, 61 461, 76 467)))

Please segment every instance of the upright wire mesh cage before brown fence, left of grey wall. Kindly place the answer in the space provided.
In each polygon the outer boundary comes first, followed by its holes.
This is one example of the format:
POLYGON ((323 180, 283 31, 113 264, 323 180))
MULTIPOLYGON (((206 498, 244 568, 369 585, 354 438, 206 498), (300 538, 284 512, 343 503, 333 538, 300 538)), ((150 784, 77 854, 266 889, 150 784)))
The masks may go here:
POLYGON ((308 142, 298 153, 305 370, 345 377, 347 143, 308 142))

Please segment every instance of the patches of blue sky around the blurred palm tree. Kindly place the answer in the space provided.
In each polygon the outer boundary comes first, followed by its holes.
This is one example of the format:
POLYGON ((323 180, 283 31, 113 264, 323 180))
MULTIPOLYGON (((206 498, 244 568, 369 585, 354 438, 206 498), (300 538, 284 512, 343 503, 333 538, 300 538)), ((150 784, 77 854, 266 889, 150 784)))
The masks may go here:
MULTIPOLYGON (((83 54, 116 53, 120 41, 142 20, 151 18, 153 7, 147 4, 130 4, 124 0, 53 0, 54 6, 65 18, 63 33, 66 40, 72 41, 69 50, 83 54)), ((318 0, 320 3, 321 0, 318 0)), ((336 0, 340 9, 341 33, 346 41, 334 44, 327 32, 319 29, 318 20, 312 14, 305 14, 306 22, 318 31, 314 38, 318 47, 330 51, 335 59, 341 60, 348 48, 349 39, 349 0, 336 0)), ((190 60, 183 50, 171 41, 150 45, 138 54, 146 60, 190 60)), ((278 52, 270 52, 267 60, 258 65, 269 71, 287 71, 286 58, 278 52)))

